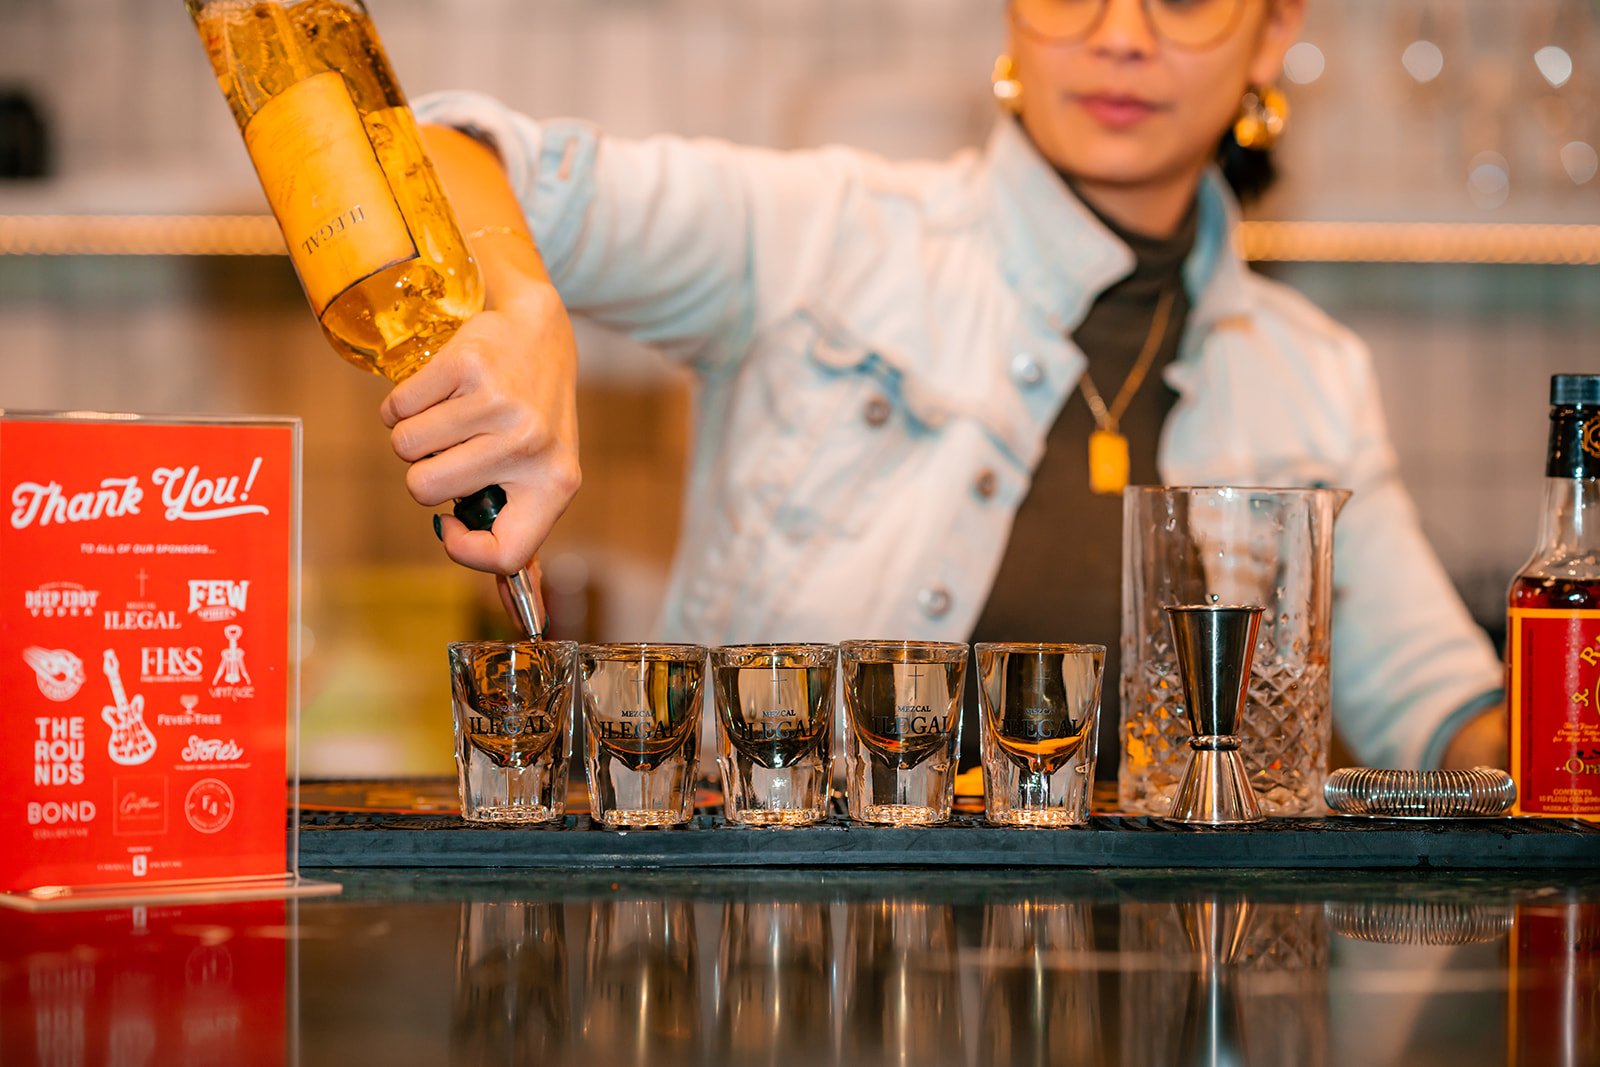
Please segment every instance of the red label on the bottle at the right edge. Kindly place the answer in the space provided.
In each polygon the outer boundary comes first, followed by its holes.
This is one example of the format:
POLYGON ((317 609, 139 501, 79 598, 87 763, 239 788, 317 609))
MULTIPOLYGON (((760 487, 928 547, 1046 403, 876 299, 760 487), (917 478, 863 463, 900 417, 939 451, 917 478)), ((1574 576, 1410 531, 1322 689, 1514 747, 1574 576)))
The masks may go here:
POLYGON ((1509 611, 1514 814, 1600 817, 1600 611, 1509 611))

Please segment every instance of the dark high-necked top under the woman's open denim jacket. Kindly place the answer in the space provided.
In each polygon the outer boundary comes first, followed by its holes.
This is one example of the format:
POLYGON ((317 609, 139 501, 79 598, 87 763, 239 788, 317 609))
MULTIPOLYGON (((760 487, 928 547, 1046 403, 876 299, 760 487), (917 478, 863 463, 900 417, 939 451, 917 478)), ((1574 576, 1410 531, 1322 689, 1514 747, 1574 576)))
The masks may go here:
MULTIPOLYGON (((1091 208, 1093 210, 1093 208, 1091 208)), ((1173 288, 1166 334, 1149 376, 1123 413, 1120 432, 1128 438, 1130 485, 1160 485, 1155 450, 1162 424, 1178 395, 1162 379, 1162 370, 1178 355, 1189 294, 1182 266, 1195 240, 1195 210, 1171 237, 1146 237, 1101 222, 1133 250, 1133 274, 1114 283, 1090 307, 1072 341, 1088 358, 1106 406, 1128 379, 1150 333, 1162 294, 1173 288)), ((1090 491, 1088 440, 1094 416, 1082 389, 1075 389, 1045 442, 1034 482, 1018 507, 1000 571, 989 592, 974 641, 1074 641, 1106 646, 1101 694, 1101 744, 1098 777, 1114 777, 1117 768, 1118 635, 1122 630, 1122 498, 1090 491)), ((968 670, 968 705, 978 710, 976 661, 968 670)), ((973 723, 978 726, 978 721, 973 723)), ((963 763, 976 763, 978 729, 963 731, 963 763)))

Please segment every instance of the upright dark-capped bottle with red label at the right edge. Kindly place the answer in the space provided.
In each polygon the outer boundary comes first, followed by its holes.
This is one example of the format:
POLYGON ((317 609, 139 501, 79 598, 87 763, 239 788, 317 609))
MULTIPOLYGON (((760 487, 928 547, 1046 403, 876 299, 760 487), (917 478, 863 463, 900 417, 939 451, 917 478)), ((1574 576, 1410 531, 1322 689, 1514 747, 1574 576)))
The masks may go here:
POLYGON ((1550 379, 1544 474, 1507 598, 1514 814, 1600 821, 1600 374, 1550 379))

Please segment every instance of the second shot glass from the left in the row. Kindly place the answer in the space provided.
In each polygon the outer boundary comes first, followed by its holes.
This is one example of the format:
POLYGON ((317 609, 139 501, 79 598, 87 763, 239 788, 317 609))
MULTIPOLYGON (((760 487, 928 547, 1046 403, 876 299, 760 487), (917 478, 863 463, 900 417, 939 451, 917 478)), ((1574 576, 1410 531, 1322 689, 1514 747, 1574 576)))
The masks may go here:
POLYGON ((584 645, 589 811, 608 827, 677 825, 694 813, 699 645, 584 645))

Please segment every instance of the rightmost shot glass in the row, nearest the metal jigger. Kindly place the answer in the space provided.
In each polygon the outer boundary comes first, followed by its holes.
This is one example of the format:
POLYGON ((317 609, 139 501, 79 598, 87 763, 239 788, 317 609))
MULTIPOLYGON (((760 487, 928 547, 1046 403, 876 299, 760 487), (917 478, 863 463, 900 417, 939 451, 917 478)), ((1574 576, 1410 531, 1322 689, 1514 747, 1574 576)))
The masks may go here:
POLYGON ((1078 825, 1094 784, 1104 645, 978 645, 990 822, 1078 825))

